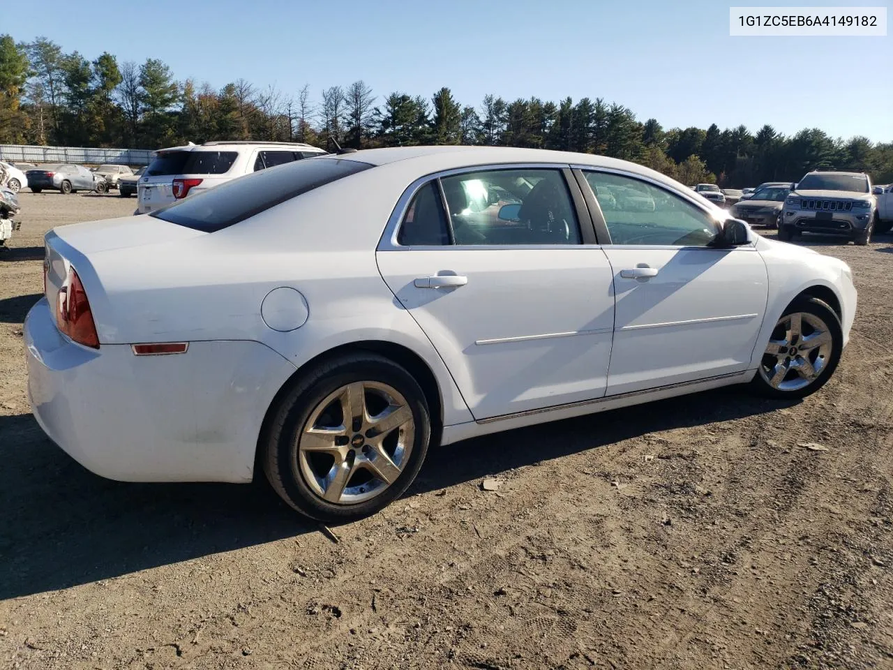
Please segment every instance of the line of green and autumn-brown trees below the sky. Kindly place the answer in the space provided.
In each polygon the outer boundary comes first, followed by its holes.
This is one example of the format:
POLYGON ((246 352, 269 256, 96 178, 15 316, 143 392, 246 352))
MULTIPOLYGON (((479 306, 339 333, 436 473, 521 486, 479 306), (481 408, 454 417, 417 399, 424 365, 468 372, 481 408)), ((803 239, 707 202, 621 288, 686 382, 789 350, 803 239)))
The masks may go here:
POLYGON ((90 61, 46 38, 0 36, 0 144, 157 149, 213 139, 306 142, 324 148, 465 144, 534 147, 634 161, 686 184, 722 187, 796 181, 814 168, 867 170, 893 181, 893 142, 832 138, 771 125, 664 129, 601 97, 558 102, 484 96, 463 105, 449 88, 432 96, 376 96, 362 80, 311 96, 246 80, 220 89, 176 80, 161 60, 90 61))

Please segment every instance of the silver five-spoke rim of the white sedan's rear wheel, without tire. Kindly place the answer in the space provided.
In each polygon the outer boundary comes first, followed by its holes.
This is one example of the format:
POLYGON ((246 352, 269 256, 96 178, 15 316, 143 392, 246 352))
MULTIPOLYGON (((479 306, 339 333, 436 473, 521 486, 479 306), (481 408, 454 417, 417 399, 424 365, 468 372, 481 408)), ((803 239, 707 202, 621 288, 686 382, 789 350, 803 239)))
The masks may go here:
POLYGON ((388 384, 355 381, 313 409, 296 443, 296 475, 337 505, 375 498, 393 484, 413 450, 413 412, 388 384))

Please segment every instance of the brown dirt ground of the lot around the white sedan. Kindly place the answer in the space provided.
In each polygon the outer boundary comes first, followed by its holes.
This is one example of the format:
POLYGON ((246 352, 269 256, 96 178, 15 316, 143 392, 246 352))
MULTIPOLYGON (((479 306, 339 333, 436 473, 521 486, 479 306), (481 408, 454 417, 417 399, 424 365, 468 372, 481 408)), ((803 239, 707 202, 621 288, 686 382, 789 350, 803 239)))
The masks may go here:
POLYGON ((21 204, 0 252, 0 667, 893 667, 893 237, 805 242, 860 301, 813 397, 728 389, 433 449, 336 542, 265 486, 109 482, 44 438, 21 350, 42 235, 136 201, 21 204))

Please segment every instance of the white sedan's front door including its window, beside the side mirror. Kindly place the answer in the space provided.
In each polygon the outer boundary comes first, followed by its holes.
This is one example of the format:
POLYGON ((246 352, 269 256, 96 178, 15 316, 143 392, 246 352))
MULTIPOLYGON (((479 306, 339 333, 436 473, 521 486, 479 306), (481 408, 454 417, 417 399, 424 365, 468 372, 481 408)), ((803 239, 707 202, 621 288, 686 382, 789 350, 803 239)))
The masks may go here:
POLYGON ((768 296, 755 247, 708 247, 714 215, 655 184, 615 172, 586 179, 611 237, 607 395, 747 370, 768 296))

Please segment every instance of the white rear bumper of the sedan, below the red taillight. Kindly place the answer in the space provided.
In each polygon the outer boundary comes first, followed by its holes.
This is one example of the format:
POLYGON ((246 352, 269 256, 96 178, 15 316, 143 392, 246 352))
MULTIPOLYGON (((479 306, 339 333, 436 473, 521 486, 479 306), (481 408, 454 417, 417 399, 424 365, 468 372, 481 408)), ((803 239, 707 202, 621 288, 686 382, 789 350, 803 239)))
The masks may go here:
POLYGON ((261 423, 294 365, 259 342, 186 354, 80 347, 46 298, 25 319, 28 396, 40 427, 93 473, 122 482, 250 482, 261 423))

